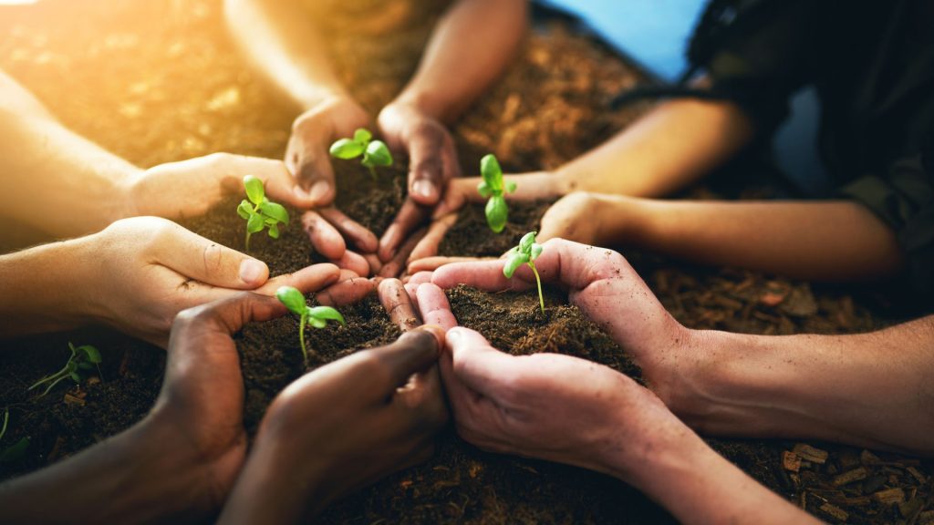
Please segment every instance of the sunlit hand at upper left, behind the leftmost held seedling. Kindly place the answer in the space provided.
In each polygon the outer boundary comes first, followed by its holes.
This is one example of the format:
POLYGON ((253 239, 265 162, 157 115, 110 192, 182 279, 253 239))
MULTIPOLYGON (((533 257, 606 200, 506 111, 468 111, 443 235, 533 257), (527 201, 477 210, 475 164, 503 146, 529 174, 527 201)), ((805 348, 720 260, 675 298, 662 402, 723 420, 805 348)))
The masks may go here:
POLYGON ((272 159, 213 153, 164 163, 131 177, 126 217, 178 219, 205 214, 227 195, 244 194, 243 177, 262 179, 266 194, 280 204, 307 208, 308 192, 295 184, 285 164, 272 159))

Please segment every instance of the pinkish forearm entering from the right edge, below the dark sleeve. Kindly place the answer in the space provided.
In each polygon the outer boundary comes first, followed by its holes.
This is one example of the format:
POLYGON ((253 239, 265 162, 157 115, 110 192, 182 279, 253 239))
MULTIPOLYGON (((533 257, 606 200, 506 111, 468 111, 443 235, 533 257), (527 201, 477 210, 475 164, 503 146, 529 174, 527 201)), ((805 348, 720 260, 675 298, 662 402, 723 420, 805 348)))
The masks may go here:
POLYGON ((702 433, 934 455, 934 317, 856 335, 692 339, 699 364, 666 403, 702 433))

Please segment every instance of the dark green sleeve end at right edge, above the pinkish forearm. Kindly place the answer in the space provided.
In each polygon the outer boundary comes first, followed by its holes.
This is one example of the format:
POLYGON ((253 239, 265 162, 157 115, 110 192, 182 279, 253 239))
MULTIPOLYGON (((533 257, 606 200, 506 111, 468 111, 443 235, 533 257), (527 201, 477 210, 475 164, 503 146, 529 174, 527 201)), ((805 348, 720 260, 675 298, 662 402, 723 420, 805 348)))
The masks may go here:
POLYGON ((885 177, 857 178, 841 192, 896 232, 913 290, 934 292, 934 173, 921 156, 894 163, 885 177))

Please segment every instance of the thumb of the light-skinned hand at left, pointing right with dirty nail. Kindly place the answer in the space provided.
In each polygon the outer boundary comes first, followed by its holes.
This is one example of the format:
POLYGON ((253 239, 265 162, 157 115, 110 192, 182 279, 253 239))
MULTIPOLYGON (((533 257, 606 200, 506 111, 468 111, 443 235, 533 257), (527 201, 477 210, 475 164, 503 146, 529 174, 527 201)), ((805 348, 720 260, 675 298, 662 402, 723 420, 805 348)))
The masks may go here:
POLYGON ((250 290, 269 278, 265 262, 226 248, 168 220, 149 244, 153 262, 184 277, 233 290, 250 290))

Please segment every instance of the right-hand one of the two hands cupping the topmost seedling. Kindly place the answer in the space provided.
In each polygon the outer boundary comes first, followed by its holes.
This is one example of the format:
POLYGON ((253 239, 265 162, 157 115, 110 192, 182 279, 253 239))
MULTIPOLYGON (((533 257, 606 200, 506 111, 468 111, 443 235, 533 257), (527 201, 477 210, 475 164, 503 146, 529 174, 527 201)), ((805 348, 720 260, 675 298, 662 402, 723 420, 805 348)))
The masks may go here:
POLYGON ((379 259, 389 262, 407 235, 431 215, 447 181, 460 177, 454 140, 441 121, 403 103, 379 113, 379 128, 389 148, 409 156, 408 197, 379 241, 379 259))

